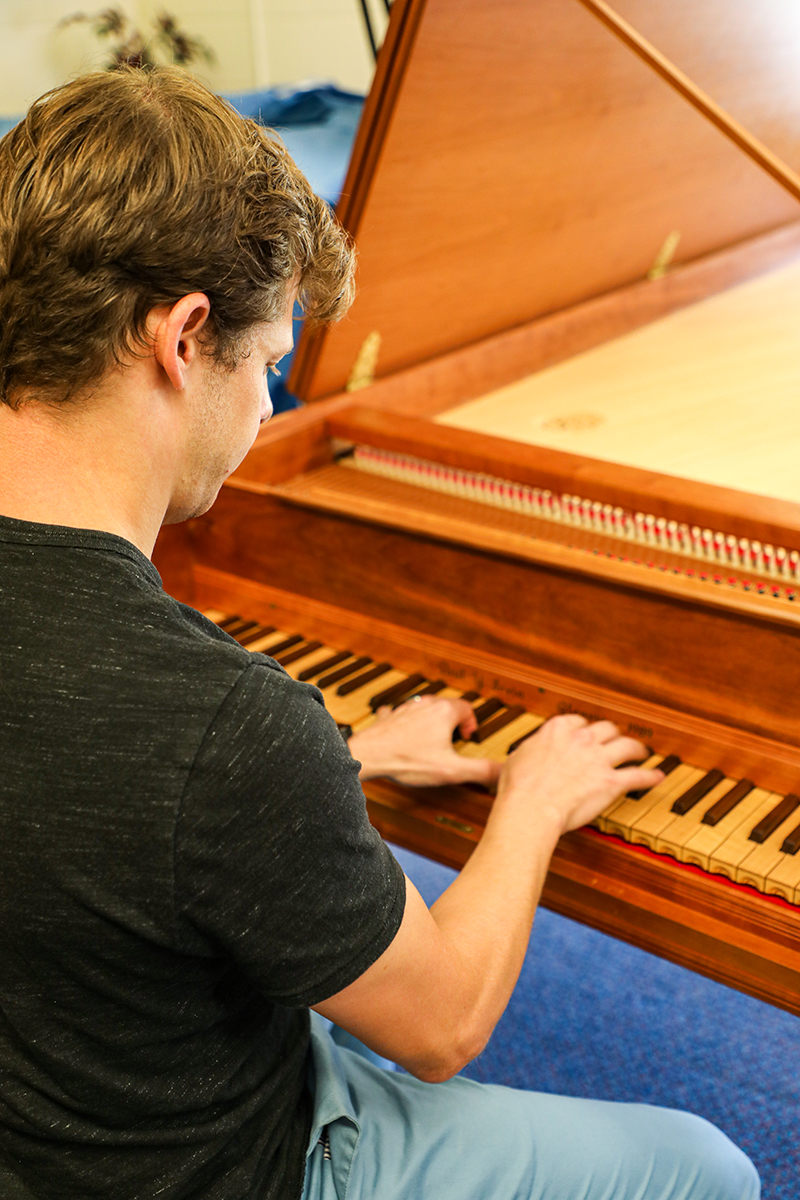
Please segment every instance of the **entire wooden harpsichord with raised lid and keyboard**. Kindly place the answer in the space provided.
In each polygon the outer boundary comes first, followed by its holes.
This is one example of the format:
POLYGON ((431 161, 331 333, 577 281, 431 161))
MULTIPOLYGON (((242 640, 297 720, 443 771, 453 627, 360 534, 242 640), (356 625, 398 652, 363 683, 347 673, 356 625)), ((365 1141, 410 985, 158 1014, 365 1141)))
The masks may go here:
MULTIPOLYGON (((447 688, 468 754, 570 709, 634 732, 669 774, 563 839, 545 902, 800 1012, 800 17, 593 7, 397 0, 351 313, 156 560, 295 674, 343 655, 342 724, 447 688)), ((455 865, 491 804, 367 796, 455 865)))

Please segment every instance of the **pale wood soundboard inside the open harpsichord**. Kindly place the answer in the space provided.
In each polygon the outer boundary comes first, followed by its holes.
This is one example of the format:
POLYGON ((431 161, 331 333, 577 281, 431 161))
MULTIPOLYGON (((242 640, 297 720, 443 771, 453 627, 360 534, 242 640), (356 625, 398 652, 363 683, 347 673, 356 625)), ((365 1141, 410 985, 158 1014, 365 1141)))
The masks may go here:
POLYGON ((800 263, 438 421, 798 502, 800 263))

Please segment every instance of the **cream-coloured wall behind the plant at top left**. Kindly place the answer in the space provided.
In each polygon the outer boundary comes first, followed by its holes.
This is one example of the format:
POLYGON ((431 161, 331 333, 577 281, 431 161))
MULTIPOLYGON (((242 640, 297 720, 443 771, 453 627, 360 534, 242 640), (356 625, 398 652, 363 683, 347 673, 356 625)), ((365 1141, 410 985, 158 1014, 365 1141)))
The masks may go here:
MULTIPOLYGON (((383 38, 383 0, 369 0, 383 38)), ((118 0, 106 0, 118 6, 118 0)), ((102 66, 107 50, 86 25, 56 29, 76 11, 98 12, 103 0, 2 0, 0 4, 0 114, 14 114, 70 76, 102 66)), ((119 0, 144 28, 164 10, 215 50, 198 73, 213 88, 330 80, 367 91, 372 53, 359 0, 119 0)))

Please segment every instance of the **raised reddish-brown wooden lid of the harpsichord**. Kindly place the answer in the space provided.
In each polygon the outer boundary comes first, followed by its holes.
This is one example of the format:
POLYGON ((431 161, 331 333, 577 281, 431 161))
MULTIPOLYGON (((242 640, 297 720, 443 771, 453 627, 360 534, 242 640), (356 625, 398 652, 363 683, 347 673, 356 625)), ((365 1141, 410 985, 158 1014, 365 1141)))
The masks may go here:
MULTIPOLYGON (((619 0, 800 166, 794 0, 619 0)), ((796 202, 577 0, 396 0, 339 214, 350 316, 301 341, 293 389, 342 391, 795 222, 796 202)))

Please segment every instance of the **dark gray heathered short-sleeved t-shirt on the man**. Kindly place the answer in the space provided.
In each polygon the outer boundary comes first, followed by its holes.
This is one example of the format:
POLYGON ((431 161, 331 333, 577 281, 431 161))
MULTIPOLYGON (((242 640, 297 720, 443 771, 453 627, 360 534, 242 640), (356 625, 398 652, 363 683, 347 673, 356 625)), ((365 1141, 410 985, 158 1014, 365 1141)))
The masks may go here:
POLYGON ((403 875, 320 703, 112 534, 0 517, 0 1150, 42 1200, 296 1200, 307 1007, 403 875))

